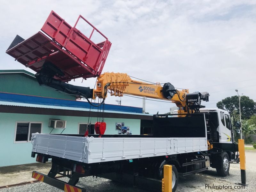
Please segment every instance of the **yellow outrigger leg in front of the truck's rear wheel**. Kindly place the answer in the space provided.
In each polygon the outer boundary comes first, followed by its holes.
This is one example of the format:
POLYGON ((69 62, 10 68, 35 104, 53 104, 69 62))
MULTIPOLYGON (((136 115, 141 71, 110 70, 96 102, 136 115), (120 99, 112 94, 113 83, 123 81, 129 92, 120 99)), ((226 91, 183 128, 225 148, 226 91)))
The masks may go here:
POLYGON ((164 165, 164 179, 162 179, 162 192, 172 192, 172 165, 164 165))

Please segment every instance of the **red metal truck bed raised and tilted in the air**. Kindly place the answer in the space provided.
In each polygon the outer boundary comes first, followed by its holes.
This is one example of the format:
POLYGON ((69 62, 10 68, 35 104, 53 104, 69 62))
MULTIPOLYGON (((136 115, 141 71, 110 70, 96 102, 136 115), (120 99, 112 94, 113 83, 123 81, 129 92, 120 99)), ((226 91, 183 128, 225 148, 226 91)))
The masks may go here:
POLYGON ((61 81, 101 74, 111 43, 83 16, 79 15, 75 26, 71 27, 52 11, 41 30, 44 33, 39 31, 6 53, 36 72, 45 61, 50 61, 65 74, 63 77, 55 77, 61 81), (76 28, 80 19, 91 26, 89 37, 76 28), (95 33, 100 34, 104 41, 92 42, 91 38, 95 33))

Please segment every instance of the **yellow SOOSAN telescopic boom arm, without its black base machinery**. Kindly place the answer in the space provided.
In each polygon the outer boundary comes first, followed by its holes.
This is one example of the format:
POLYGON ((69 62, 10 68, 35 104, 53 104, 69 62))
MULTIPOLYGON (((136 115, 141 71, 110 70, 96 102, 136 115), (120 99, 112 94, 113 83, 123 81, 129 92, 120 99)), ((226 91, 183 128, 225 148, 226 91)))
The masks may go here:
POLYGON ((104 73, 98 77, 97 89, 93 90, 94 99, 96 97, 105 98, 106 89, 111 96, 122 97, 124 94, 134 95, 140 97, 148 97, 160 100, 170 100, 177 105, 177 107, 186 107, 186 95, 188 89, 182 91, 175 90, 174 86, 166 83, 163 86, 159 83, 149 84, 133 80, 126 73, 104 73))

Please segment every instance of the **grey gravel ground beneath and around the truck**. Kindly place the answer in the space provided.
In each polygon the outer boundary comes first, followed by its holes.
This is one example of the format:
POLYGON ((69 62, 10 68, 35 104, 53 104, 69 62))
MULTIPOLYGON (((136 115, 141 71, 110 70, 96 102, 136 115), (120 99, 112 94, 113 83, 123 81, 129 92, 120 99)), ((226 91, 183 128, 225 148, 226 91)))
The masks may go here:
MULTIPOLYGON (((230 164, 230 175, 227 177, 219 177, 215 169, 210 168, 210 170, 196 173, 193 175, 188 175, 185 177, 179 177, 179 185, 177 187, 177 192, 187 192, 187 191, 194 191, 194 192, 201 192, 201 191, 246 191, 246 192, 255 192, 256 191, 256 180, 255 180, 255 173, 256 173, 256 152, 254 151, 247 151, 246 152, 246 179, 247 179, 247 186, 245 189, 234 189, 236 185, 235 183, 241 182, 240 176, 240 164, 230 164), (205 185, 208 184, 209 186, 230 186, 229 189, 208 189, 205 188, 205 185), (231 188, 232 187, 232 188, 231 188)), ((67 181, 67 179, 62 178, 62 180, 67 181)), ((86 188, 88 192, 146 192, 148 190, 143 190, 140 188, 133 188, 131 186, 124 186, 122 184, 103 179, 103 178, 81 178, 77 183, 77 186, 86 188)), ((12 187, 1 189, 1 192, 63 192, 60 189, 54 188, 50 185, 45 183, 34 183, 19 187, 12 187)))

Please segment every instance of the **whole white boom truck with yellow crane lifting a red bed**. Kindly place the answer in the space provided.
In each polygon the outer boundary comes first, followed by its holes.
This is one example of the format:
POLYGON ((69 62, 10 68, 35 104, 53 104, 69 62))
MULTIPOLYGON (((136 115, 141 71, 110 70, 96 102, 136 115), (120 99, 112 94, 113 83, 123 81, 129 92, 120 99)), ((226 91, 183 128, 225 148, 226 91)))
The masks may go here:
POLYGON ((189 93, 172 84, 151 84, 132 79, 124 73, 103 73, 111 43, 81 15, 72 28, 55 12, 44 23, 43 32, 24 40, 16 36, 6 51, 28 68, 36 71, 40 85, 59 92, 86 98, 94 106, 104 105, 107 93, 168 100, 177 105, 176 114, 153 116, 152 135, 107 135, 105 122, 96 122, 96 134, 32 134, 32 153, 36 161, 52 159, 47 175, 33 172, 32 177, 64 191, 81 191, 79 178, 103 177, 117 182, 140 185, 160 191, 163 167, 172 165, 172 191, 178 176, 202 172, 209 167, 229 175, 229 165, 235 160, 238 145, 234 141, 231 118, 227 111, 204 108, 208 92, 189 93), (76 28, 79 19, 91 27, 90 37, 76 28), (105 41, 94 43, 93 32, 105 41), (71 79, 97 77, 96 89, 67 84, 71 79), (101 98, 93 104, 89 99, 101 98), (56 179, 57 174, 69 178, 56 179))

